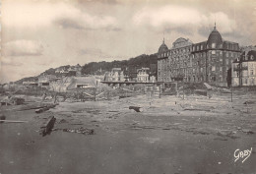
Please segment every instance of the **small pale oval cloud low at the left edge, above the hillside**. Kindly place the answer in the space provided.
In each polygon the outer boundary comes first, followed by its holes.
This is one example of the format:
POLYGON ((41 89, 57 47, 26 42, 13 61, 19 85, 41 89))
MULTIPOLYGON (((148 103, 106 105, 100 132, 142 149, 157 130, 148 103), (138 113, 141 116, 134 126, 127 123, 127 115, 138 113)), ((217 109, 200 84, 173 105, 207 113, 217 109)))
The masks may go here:
POLYGON ((3 45, 5 56, 38 56, 42 55, 43 46, 34 40, 15 40, 3 45))

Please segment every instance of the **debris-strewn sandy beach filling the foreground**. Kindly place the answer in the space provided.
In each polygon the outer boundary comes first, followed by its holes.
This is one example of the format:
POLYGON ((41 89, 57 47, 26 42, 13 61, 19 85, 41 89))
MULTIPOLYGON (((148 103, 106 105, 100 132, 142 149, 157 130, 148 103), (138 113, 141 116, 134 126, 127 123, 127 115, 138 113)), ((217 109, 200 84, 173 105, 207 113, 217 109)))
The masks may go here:
POLYGON ((254 173, 255 105, 237 97, 138 95, 61 102, 40 114, 2 106, 6 119, 28 123, 0 124, 0 173, 254 173), (56 118, 54 129, 42 137, 49 116, 56 118), (94 134, 64 131, 81 127, 94 134), (234 162, 236 149, 251 147, 244 162, 234 162))

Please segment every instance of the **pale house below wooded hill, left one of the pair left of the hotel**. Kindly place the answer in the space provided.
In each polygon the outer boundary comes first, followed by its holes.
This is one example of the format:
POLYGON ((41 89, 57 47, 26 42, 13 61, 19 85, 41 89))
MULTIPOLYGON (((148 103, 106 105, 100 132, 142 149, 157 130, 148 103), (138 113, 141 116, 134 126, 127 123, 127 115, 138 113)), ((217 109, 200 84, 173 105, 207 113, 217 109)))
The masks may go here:
POLYGON ((104 81, 106 82, 124 82, 124 73, 121 68, 113 68, 111 72, 106 72, 104 75, 104 81))

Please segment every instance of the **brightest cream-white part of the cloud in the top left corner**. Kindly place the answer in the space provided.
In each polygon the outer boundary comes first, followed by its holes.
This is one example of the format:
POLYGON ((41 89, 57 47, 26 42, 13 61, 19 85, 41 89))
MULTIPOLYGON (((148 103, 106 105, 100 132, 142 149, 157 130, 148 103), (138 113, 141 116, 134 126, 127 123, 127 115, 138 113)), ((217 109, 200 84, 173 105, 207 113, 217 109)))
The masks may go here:
POLYGON ((57 17, 76 14, 77 9, 65 3, 47 2, 4 2, 2 9, 3 26, 39 28, 51 25, 57 17))

